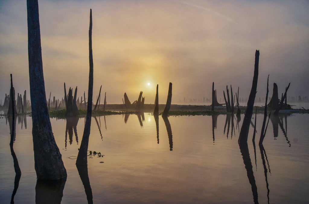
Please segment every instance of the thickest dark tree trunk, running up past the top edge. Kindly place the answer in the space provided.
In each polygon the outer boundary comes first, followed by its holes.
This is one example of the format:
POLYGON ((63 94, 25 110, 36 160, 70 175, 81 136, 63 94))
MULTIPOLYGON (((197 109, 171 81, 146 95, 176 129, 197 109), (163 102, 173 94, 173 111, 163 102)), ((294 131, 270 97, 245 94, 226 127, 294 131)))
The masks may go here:
POLYGON ((34 167, 38 179, 56 180, 67 174, 53 136, 46 104, 37 0, 27 0, 27 13, 34 167))

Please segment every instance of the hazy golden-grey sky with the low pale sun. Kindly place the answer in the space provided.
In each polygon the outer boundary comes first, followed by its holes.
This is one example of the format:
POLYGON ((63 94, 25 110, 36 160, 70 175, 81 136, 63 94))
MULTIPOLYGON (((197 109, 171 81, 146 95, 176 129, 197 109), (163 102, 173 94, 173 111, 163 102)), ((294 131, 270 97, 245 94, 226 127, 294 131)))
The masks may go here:
MULTIPOLYGON (((212 82, 222 97, 226 85, 249 96, 255 51, 260 51, 256 97, 309 96, 309 1, 202 0, 39 0, 46 95, 62 98, 63 83, 88 90, 89 13, 92 9, 93 99, 107 103, 138 99, 165 103, 169 82, 172 104, 184 97, 211 97, 212 82), (148 85, 148 83, 150 85, 148 85)), ((0 99, 10 89, 29 97, 26 1, 0 1, 0 99)), ((101 102, 102 103, 102 102, 101 102)))

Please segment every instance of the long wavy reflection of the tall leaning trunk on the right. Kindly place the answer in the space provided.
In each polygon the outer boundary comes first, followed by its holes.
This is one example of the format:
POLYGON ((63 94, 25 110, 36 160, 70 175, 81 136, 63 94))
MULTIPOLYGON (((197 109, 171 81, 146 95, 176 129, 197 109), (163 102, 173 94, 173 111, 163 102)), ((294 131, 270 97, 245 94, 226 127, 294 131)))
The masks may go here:
POLYGON ((253 202, 255 204, 258 204, 259 202, 258 202, 257 187, 256 187, 255 178, 254 178, 254 175, 253 175, 252 163, 251 163, 251 159, 250 159, 248 144, 246 142, 245 143, 239 143, 239 149, 240 149, 241 155, 243 156, 243 164, 245 165, 245 169, 247 171, 247 177, 248 177, 249 183, 251 185, 253 202))

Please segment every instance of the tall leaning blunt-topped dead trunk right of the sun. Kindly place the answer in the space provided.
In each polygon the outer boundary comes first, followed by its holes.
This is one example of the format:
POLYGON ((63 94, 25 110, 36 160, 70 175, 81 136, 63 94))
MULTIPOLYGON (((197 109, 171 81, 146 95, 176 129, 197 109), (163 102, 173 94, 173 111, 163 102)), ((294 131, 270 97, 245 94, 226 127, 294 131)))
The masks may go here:
POLYGON ((259 75, 259 56, 260 56, 260 52, 256 50, 252 88, 251 88, 251 92, 249 95, 245 116, 243 118, 243 124, 240 129, 238 143, 247 143, 247 140, 248 140, 250 121, 252 118, 253 105, 254 105, 254 100, 256 96, 257 80, 258 80, 258 75, 259 75))

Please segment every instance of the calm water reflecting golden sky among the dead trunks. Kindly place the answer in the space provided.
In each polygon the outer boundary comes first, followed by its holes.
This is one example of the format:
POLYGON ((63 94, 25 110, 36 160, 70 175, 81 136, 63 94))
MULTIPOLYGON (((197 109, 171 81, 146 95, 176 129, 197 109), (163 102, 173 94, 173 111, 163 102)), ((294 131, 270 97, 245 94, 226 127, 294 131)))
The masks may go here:
MULTIPOLYGON (((159 116, 159 135, 148 113, 92 117, 89 150, 104 156, 90 156, 88 168, 77 169, 74 156, 85 119, 53 118, 68 176, 53 184, 48 197, 34 171, 31 117, 17 118, 14 151, 22 174, 14 202, 35 203, 37 197, 61 203, 87 203, 87 198, 94 203, 308 203, 309 114, 271 118, 259 147, 262 121, 258 114, 255 147, 251 127, 248 147, 240 149, 238 123, 229 115, 165 121, 159 116)), ((18 178, 9 120, 3 116, 0 128, 0 203, 10 203, 18 178)))

